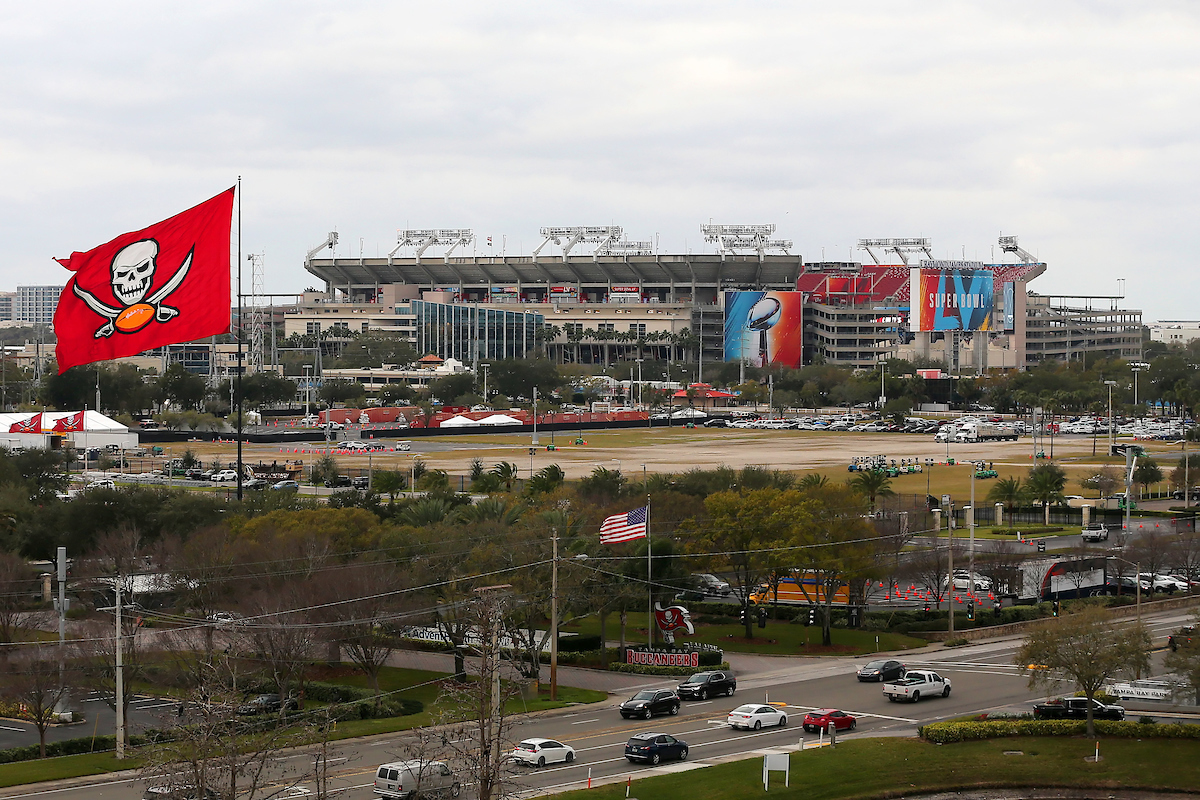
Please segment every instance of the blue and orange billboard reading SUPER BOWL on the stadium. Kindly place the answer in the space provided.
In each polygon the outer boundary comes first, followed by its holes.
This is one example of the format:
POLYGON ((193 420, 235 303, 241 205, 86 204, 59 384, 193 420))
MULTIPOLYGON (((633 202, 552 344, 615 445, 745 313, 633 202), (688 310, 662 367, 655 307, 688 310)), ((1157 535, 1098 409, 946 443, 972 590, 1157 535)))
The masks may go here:
POLYGON ((910 278, 914 331, 990 331, 995 275, 965 267, 913 267, 910 278))

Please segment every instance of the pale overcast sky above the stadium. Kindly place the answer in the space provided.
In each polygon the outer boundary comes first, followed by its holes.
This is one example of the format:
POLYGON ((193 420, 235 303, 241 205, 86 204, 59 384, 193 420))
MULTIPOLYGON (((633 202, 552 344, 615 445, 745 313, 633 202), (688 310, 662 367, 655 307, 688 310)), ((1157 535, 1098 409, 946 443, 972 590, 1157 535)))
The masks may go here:
MULTIPOLYGON (((403 227, 527 254, 775 223, 809 260, 929 236, 1042 293, 1200 319, 1193 2, 2 2, 0 288, 244 180, 268 291, 403 227), (998 255, 998 253, 997 253, 998 255)), ((248 276, 246 289, 250 289, 248 276)))

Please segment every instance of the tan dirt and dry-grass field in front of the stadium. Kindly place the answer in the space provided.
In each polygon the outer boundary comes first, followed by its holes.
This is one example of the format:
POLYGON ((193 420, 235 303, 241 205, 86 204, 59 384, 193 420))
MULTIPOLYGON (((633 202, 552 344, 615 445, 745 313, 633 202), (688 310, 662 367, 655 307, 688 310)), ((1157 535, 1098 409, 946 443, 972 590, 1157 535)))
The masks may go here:
MULTIPOLYGON (((970 485, 970 471, 966 467, 943 467, 947 459, 947 446, 936 444, 932 435, 880 434, 880 433, 820 433, 809 431, 745 431, 730 428, 653 428, 623 431, 584 432, 586 445, 576 445, 575 433, 539 434, 539 449, 532 457, 534 470, 547 464, 558 464, 569 479, 587 475, 596 467, 620 470, 631 480, 642 473, 679 473, 694 467, 713 468, 721 464, 740 468, 749 464, 770 467, 796 471, 821 471, 832 477, 845 476, 846 465, 854 456, 886 455, 888 458, 934 458, 938 465, 930 475, 930 491, 960 493, 970 485), (559 447, 547 451, 551 441, 559 447)), ((392 446, 396 440, 383 443, 392 446)), ((530 437, 529 434, 490 434, 490 435, 454 435, 412 439, 412 452, 374 452, 366 455, 336 455, 344 468, 366 469, 368 463, 376 469, 408 470, 412 457, 420 457, 433 469, 444 469, 451 475, 469 473, 473 459, 479 458, 485 467, 500 461, 517 464, 522 476, 529 474, 530 437)), ((210 462, 220 457, 228 464, 235 458, 233 444, 192 443, 187 445, 197 457, 210 462)), ((1180 456, 1178 447, 1168 447, 1148 443, 1147 451, 1158 458, 1164 471, 1174 465, 1180 456)), ((301 452, 293 447, 277 445, 245 445, 245 458, 258 461, 302 459, 305 464, 319 457, 324 445, 301 445, 301 452), (307 452, 302 452, 307 450, 307 452)), ((172 447, 174 455, 180 455, 184 447, 172 447)), ((1046 446, 1049 451, 1049 446, 1046 446)), ((1117 459, 1102 453, 1105 443, 1097 445, 1097 456, 1092 456, 1090 438, 1058 438, 1055 440, 1055 461, 1063 465, 1073 479, 1068 493, 1084 494, 1074 486, 1075 480, 1093 475, 1104 464, 1117 464, 1117 459)), ((952 444, 949 457, 955 461, 984 459, 992 462, 1001 476, 1024 476, 1033 464, 1033 444, 1030 439, 990 444, 952 444)), ((1122 462, 1123 463, 1123 462, 1122 462)), ((977 492, 986 493, 990 482, 977 486, 977 492)), ((924 492, 926 476, 908 475, 896 479, 894 488, 899 492, 924 492)), ((936 492, 935 492, 936 493, 936 492)))

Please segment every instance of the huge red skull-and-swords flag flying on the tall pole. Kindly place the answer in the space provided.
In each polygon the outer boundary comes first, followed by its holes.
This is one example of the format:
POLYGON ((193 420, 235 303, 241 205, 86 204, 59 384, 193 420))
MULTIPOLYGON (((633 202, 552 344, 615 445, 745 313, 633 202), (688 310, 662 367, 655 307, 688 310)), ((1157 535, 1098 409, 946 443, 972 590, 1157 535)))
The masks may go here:
POLYGON ((233 193, 56 259, 74 272, 54 312, 60 374, 229 330, 233 193))

